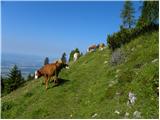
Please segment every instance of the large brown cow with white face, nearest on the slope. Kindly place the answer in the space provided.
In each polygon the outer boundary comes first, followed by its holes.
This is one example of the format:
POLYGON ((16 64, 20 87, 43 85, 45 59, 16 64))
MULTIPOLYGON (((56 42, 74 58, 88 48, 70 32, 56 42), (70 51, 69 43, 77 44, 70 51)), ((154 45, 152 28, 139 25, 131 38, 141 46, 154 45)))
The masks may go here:
POLYGON ((56 63, 51 63, 43 66, 39 70, 35 71, 35 79, 38 79, 41 76, 45 77, 46 89, 48 88, 48 81, 51 77, 55 76, 54 82, 56 83, 58 79, 58 74, 62 68, 68 68, 66 63, 63 63, 61 60, 56 61, 56 63))

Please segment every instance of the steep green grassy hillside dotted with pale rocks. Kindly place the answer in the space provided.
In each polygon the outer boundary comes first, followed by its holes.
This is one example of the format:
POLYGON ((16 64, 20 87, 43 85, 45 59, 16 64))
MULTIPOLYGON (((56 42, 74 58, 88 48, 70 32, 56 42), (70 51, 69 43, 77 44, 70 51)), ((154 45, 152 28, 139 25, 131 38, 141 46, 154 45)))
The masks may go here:
POLYGON ((152 62, 158 59, 158 32, 140 36, 121 50, 126 59, 118 66, 109 64, 108 48, 81 57, 60 73, 63 84, 50 84, 47 91, 43 78, 27 82, 2 98, 2 118, 92 118, 95 114, 95 118, 125 118, 126 112, 133 118, 136 110, 142 118, 158 118, 153 80, 158 79, 159 68, 158 61, 152 62), (129 91, 137 97, 131 107, 129 91))

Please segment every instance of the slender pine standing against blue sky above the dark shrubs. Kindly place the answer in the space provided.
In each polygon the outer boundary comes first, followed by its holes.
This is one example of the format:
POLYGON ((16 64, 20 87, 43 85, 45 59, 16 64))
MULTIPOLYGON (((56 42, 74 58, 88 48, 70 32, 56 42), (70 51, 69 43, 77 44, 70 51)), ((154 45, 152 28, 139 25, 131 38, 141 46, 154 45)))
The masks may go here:
POLYGON ((123 21, 123 26, 131 28, 135 24, 134 19, 134 8, 131 1, 125 1, 124 8, 121 12, 121 18, 123 21))

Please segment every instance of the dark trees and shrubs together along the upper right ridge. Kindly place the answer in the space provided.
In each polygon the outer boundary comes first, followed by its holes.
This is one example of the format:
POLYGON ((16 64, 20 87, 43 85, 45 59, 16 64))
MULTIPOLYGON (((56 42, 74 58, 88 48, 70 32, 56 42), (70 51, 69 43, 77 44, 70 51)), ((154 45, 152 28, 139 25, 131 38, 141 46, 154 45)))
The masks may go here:
POLYGON ((141 15, 135 20, 132 2, 125 2, 120 15, 120 30, 107 36, 109 48, 115 50, 143 33, 159 29, 159 1, 144 1, 140 10, 141 15))

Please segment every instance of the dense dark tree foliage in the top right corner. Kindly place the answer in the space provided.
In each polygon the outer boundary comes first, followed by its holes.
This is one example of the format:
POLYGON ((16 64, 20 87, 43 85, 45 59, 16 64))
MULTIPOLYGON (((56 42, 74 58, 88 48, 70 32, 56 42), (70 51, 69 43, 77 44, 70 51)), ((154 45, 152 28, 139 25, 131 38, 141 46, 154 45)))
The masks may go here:
POLYGON ((141 9, 141 16, 137 22, 137 27, 150 24, 158 24, 159 20, 159 1, 144 1, 141 9))

